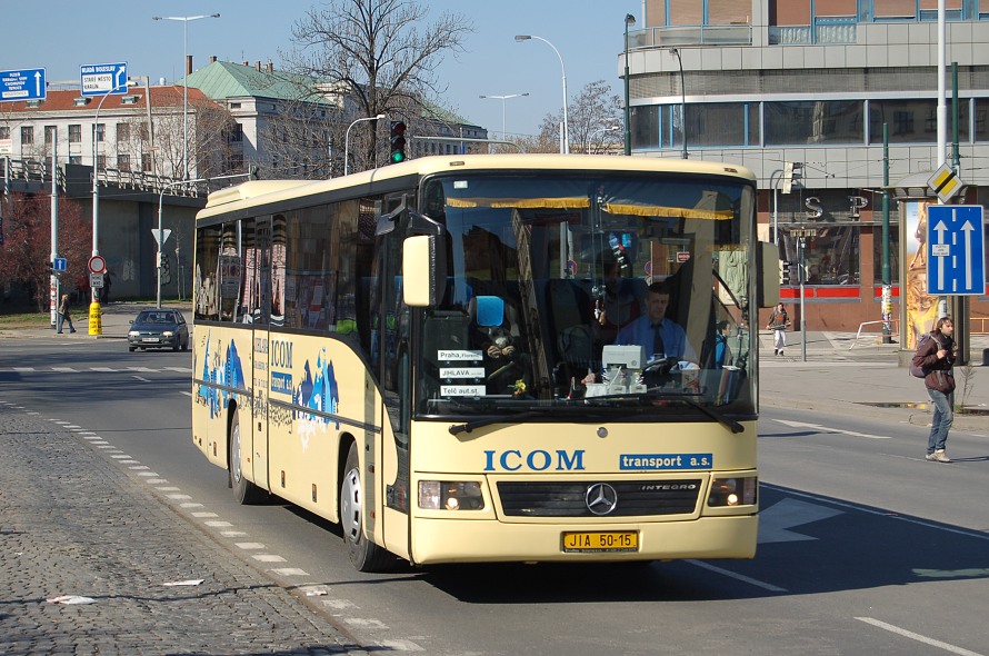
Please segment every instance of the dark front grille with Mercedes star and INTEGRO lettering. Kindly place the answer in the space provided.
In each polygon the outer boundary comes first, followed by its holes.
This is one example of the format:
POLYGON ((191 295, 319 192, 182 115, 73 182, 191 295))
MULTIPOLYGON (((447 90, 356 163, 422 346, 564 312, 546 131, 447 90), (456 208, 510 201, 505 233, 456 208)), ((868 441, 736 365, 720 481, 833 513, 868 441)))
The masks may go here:
POLYGON ((499 481, 501 509, 510 517, 648 517, 689 515, 700 479, 632 481, 499 481), (606 486, 602 489, 600 486, 606 486), (593 510, 591 509, 593 507, 593 510))

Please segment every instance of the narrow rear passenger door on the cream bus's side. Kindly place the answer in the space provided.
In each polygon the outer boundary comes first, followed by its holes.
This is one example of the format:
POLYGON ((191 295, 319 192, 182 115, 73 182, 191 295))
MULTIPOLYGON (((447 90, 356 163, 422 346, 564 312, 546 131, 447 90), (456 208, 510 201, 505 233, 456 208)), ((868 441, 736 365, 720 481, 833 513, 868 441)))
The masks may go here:
MULTIPOLYGON (((282 227, 282 237, 284 229, 282 227)), ((273 266, 272 247, 272 220, 271 217, 262 217, 244 221, 244 252, 248 255, 249 267, 247 274, 247 315, 244 319, 250 321, 252 330, 251 344, 253 345, 253 358, 251 358, 253 377, 253 399, 251 402, 251 479, 261 489, 269 488, 268 476, 268 402, 271 389, 271 324, 272 324, 272 296, 277 268, 273 266)), ((283 246, 282 241, 282 246, 283 246)), ((282 256, 284 249, 281 250, 282 256)), ((281 281, 284 284, 284 258, 280 269, 281 281)))

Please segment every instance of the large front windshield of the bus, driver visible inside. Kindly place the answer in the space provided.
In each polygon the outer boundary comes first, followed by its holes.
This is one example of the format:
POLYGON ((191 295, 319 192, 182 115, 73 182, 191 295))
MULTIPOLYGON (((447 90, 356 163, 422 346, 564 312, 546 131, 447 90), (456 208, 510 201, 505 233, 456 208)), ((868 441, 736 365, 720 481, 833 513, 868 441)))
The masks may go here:
POLYGON ((753 189, 676 173, 427 179, 443 300, 420 318, 420 417, 751 416, 753 189))

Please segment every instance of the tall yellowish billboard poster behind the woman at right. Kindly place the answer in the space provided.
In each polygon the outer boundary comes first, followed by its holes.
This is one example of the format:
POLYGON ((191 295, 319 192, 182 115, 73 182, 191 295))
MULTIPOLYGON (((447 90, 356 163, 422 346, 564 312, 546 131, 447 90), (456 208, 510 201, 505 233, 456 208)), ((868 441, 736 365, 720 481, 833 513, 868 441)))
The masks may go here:
POLYGON ((927 294, 927 208, 935 200, 905 200, 900 202, 902 252, 900 261, 906 265, 901 289, 900 340, 903 348, 917 348, 917 339, 930 332, 938 319, 938 297, 927 294))

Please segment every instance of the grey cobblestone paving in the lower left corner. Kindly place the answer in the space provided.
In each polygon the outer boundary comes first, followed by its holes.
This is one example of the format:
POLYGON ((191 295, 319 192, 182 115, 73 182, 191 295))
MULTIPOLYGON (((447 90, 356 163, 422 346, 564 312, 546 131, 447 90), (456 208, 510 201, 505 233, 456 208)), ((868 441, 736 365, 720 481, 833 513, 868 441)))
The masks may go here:
POLYGON ((0 654, 364 654, 77 436, 0 427, 0 654))

